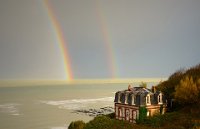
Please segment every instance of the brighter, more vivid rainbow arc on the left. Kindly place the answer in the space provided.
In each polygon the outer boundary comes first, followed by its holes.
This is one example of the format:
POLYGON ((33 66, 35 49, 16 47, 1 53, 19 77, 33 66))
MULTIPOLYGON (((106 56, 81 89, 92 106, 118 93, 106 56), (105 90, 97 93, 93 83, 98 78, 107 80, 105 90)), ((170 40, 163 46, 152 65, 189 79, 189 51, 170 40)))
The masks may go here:
POLYGON ((67 43, 66 39, 64 38, 62 29, 56 18, 56 15, 54 13, 54 10, 53 10, 51 4, 49 3, 48 0, 44 0, 44 5, 47 9, 48 17, 52 23, 52 26, 56 32, 56 38, 57 38, 58 45, 61 50, 61 53, 62 53, 61 55, 62 55, 63 62, 64 62, 64 70, 65 70, 65 74, 66 74, 66 79, 68 81, 71 81, 71 80, 73 80, 73 74, 72 74, 70 58, 69 58, 69 54, 68 54, 67 46, 66 46, 66 43, 67 43))

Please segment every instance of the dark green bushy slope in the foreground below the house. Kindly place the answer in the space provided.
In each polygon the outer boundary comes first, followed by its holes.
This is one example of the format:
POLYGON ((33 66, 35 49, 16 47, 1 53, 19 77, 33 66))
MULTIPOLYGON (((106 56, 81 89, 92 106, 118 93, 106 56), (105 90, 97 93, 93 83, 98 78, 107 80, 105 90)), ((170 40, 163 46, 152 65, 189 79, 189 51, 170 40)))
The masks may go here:
POLYGON ((148 117, 137 124, 119 121, 109 116, 97 116, 88 123, 71 125, 68 129, 200 129, 200 107, 186 107, 176 112, 148 117), (192 109, 192 110, 191 110, 192 109))

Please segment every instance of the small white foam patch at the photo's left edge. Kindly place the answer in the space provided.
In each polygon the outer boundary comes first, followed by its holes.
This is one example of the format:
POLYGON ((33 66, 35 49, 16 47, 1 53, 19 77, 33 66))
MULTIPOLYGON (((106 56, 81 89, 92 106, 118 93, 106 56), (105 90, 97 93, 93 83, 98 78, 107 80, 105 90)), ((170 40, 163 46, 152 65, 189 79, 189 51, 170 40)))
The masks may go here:
POLYGON ((19 109, 18 109, 19 105, 20 104, 17 104, 17 103, 0 104, 0 112, 18 116, 20 115, 19 109))

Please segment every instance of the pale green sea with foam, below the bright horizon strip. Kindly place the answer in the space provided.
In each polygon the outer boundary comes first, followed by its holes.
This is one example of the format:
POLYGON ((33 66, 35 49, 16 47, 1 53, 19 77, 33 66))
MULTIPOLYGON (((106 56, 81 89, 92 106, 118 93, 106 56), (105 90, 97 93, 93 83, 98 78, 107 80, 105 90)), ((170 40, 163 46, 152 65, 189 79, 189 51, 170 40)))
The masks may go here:
POLYGON ((67 129, 71 121, 94 118, 84 111, 114 111, 115 92, 127 87, 128 83, 0 87, 0 129, 67 129))

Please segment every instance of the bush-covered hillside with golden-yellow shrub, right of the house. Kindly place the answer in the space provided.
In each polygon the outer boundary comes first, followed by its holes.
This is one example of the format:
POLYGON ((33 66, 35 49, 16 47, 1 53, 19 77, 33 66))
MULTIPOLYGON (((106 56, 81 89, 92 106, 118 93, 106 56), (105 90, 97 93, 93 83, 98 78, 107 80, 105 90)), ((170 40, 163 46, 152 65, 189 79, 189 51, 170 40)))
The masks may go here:
MULTIPOLYGON (((163 82, 160 82, 157 86, 156 86, 156 89, 157 90, 160 90, 164 93, 167 101, 168 101, 168 106, 171 107, 171 100, 174 99, 176 97, 176 99, 179 101, 179 103, 177 103, 177 101, 174 101, 173 102, 173 106, 170 108, 170 110, 176 110, 176 109, 180 109, 182 107, 184 107, 183 105, 185 104, 191 104, 191 103, 194 103, 194 101, 190 101, 190 100, 186 100, 184 98, 184 93, 185 91, 187 92, 186 95, 187 97, 186 98, 190 98, 190 96, 188 94, 192 93, 189 86, 187 87, 186 85, 186 89, 190 92, 188 92, 187 90, 184 90, 184 88, 180 88, 180 87, 183 87, 181 86, 182 84, 185 85, 184 83, 188 83, 188 85, 192 85, 191 89, 195 89, 194 88, 194 85, 196 85, 197 87, 197 92, 198 92, 198 104, 200 102, 200 64, 194 66, 194 67, 191 67, 187 70, 178 70, 176 71, 175 73, 173 73, 169 78, 168 80, 166 81, 163 81, 163 82), (189 78, 190 77, 190 78, 189 78), (186 78, 189 78, 188 80, 186 78), (192 78, 192 79, 191 79, 192 78), (182 82, 181 82, 182 81, 182 82), (188 83, 188 82, 189 83, 188 83), (179 90, 181 90, 180 92, 182 92, 181 94, 178 93, 179 90), (178 92, 177 92, 178 91, 178 92), (177 92, 177 93, 175 93, 177 92), (176 95, 176 96, 175 96, 176 95), (179 97, 180 96, 180 97, 179 97), (182 103, 183 101, 186 100, 186 103, 182 103), (181 103, 180 103, 181 102, 181 103)), ((194 92, 195 93, 195 92, 194 92)), ((192 94, 190 94, 192 96, 192 94)), ((197 97, 196 93, 194 94, 195 98, 197 97)), ((197 99, 195 99, 196 101, 197 99)), ((168 108, 169 109, 169 108, 168 108)))

